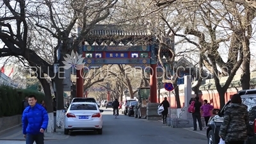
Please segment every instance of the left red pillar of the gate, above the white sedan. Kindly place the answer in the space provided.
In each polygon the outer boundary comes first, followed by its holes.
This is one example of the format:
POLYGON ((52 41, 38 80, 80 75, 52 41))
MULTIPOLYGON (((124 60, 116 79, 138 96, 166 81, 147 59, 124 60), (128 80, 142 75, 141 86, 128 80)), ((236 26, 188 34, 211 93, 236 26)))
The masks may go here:
POLYGON ((84 70, 76 70, 76 97, 83 97, 84 95, 84 79, 83 79, 84 70))

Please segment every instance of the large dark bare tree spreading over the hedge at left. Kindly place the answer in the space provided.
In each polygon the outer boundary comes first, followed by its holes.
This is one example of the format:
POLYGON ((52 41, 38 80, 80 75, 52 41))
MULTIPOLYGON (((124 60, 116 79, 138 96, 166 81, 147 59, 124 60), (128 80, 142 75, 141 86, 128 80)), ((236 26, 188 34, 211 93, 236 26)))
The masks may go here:
MULTIPOLYGON (((63 66, 63 56, 72 49, 77 49, 83 41, 90 28, 100 20, 106 19, 110 14, 115 1, 69 1, 63 0, 56 3, 45 0, 38 1, 15 1, 11 4, 10 1, 4 0, 1 3, 1 10, 4 10, 4 15, 1 15, 0 39, 4 42, 3 49, 0 49, 0 56, 21 56, 28 61, 33 70, 54 77, 53 63, 58 63, 63 66), (62 3, 63 2, 63 3, 62 3), (93 9, 91 7, 94 7, 93 9), (74 26, 79 20, 82 24, 80 35, 70 45, 70 35, 74 26), (17 29, 13 29, 10 22, 14 22, 17 29), (16 30, 16 31, 14 31, 16 30), (38 35, 50 34, 51 39, 55 40, 54 45, 48 45, 53 49, 53 58, 51 63, 41 57, 41 54, 36 53, 35 38, 31 33, 38 35), (60 58, 58 59, 58 51, 60 58)), ((49 44, 49 43, 48 43, 49 44)), ((63 72, 63 69, 60 68, 63 72)), ((61 74, 60 74, 61 75, 61 74)), ((63 77, 63 76, 60 76, 63 77)), ((39 77, 38 77, 39 78, 39 77)), ((42 81, 44 77, 41 77, 42 81)), ((63 109, 63 86, 59 77, 52 79, 57 87, 58 109, 63 109)), ((41 80, 40 80, 41 81, 41 80)), ((46 84, 46 83, 44 83, 46 84)), ((45 89, 46 90, 46 89, 45 89)))

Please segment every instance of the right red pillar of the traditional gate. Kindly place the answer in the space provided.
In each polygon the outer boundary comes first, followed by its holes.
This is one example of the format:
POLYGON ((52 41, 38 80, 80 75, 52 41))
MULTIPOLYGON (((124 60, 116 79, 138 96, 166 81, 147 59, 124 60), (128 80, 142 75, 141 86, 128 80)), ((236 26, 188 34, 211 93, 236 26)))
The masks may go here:
POLYGON ((157 103, 157 79, 156 79, 156 67, 157 64, 150 65, 150 102, 157 103))

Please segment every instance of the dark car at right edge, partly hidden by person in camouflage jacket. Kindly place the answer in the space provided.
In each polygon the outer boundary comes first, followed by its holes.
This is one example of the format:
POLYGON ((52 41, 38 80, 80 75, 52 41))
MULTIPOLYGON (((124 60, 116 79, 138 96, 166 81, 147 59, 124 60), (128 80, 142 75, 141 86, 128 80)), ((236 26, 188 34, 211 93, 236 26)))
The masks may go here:
MULTIPOLYGON (((241 95, 242 103, 248 106, 250 121, 248 132, 254 134, 254 136, 248 137, 246 144, 253 144, 256 141, 256 90, 243 90, 237 94, 241 95)), ((215 116, 211 117, 208 123, 209 127, 207 128, 208 143, 218 144, 220 142, 220 126, 223 122, 224 108, 228 106, 228 104, 230 104, 230 100, 228 100, 221 111, 220 109, 213 109, 212 113, 215 116)))

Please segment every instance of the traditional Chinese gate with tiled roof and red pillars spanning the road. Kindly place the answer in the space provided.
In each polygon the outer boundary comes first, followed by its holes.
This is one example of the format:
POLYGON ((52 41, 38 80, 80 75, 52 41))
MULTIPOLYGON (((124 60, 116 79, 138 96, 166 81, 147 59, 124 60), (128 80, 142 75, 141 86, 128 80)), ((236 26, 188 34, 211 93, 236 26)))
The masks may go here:
POLYGON ((82 72, 77 70, 77 96, 82 97, 84 93, 83 72, 103 65, 125 64, 150 72, 150 102, 157 102, 155 40, 146 31, 130 32, 113 25, 96 25, 84 37, 78 51, 83 54, 86 68, 82 72))

